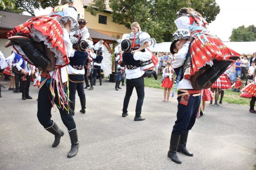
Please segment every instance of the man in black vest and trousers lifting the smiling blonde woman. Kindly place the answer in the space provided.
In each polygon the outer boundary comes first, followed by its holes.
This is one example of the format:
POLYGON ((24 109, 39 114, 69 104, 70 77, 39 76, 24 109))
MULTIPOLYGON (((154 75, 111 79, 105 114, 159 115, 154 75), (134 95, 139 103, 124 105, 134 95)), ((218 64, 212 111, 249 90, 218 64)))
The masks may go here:
POLYGON ((133 88, 135 87, 138 99, 135 109, 134 121, 145 120, 145 118, 141 118, 141 108, 145 93, 144 81, 142 78, 144 71, 141 70, 140 66, 141 61, 149 60, 151 59, 151 56, 147 55, 146 52, 134 52, 134 54, 132 54, 132 43, 128 39, 125 39, 121 42, 121 49, 123 51, 122 59, 126 67, 126 92, 123 101, 122 117, 128 116, 127 108, 133 92, 133 88))

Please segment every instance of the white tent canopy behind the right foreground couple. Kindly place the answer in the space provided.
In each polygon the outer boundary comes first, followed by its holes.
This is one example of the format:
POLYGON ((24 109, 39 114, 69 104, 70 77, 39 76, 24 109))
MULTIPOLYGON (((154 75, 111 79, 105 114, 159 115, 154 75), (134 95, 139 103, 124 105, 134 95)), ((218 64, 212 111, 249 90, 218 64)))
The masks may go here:
MULTIPOLYGON (((243 54, 253 54, 256 52, 256 41, 254 42, 223 42, 225 46, 243 54)), ((150 47, 152 52, 170 52, 171 42, 162 42, 155 44, 155 47, 150 47)))

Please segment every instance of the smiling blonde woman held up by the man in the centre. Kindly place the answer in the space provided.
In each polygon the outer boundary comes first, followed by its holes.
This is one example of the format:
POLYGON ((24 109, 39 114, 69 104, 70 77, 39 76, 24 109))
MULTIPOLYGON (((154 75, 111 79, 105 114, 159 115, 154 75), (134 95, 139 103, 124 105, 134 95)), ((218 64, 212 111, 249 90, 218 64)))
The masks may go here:
MULTIPOLYGON (((132 33, 124 34, 122 40, 130 39, 132 42, 132 54, 139 52, 140 55, 152 56, 151 60, 141 61, 141 70, 146 71, 154 68, 158 63, 158 59, 152 55, 152 52, 148 50, 148 46, 155 46, 155 38, 150 38, 150 35, 146 32, 141 31, 141 27, 137 22, 132 23, 131 25, 132 33)), ((148 77, 153 75, 155 80, 157 80, 157 74, 155 71, 145 72, 143 77, 148 77)))

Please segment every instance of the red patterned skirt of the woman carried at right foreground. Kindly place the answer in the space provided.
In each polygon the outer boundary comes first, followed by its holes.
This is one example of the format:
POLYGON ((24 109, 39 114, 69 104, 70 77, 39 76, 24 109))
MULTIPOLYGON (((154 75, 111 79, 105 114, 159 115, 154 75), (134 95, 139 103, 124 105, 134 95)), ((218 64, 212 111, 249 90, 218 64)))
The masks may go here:
POLYGON ((203 45, 197 37, 192 41, 190 53, 191 61, 184 70, 184 78, 189 78, 198 72, 204 65, 213 65, 213 59, 229 59, 231 56, 240 56, 239 53, 225 46, 222 41, 213 35, 205 34, 209 43, 203 45))

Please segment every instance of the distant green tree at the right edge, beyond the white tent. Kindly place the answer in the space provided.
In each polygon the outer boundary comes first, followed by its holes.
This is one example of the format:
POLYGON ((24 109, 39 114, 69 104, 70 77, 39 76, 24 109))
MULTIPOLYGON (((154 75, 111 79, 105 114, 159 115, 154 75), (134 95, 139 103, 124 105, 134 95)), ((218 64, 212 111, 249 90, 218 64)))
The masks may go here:
POLYGON ((256 41, 256 27, 251 25, 234 28, 229 38, 232 42, 256 41))

